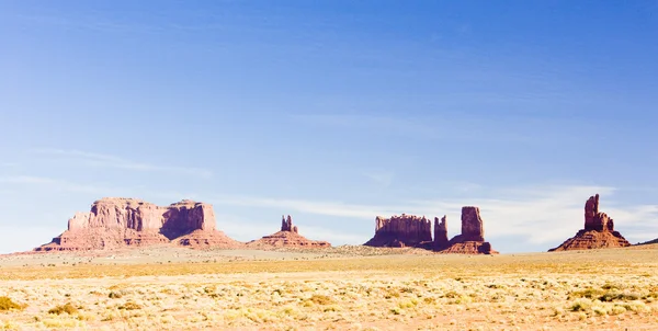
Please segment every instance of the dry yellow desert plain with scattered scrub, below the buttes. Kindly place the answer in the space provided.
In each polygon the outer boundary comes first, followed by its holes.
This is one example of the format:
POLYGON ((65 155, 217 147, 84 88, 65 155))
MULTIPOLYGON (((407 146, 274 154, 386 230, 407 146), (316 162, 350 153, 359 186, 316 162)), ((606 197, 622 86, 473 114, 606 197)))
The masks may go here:
POLYGON ((9 330, 656 330, 658 246, 501 255, 159 247, 0 258, 9 330))

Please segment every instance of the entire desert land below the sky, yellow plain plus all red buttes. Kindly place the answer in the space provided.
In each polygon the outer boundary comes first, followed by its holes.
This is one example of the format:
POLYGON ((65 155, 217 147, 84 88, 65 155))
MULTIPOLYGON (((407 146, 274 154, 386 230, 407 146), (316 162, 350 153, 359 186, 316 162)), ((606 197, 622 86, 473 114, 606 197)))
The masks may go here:
POLYGON ((498 254, 479 208, 376 217, 364 246, 281 230, 247 243, 213 206, 103 198, 32 252, 0 258, 8 330, 653 330, 658 244, 633 246, 585 204, 585 229, 552 252, 498 254), (191 236, 191 233, 193 236, 191 236), (181 240, 181 238, 193 238, 181 240), (559 252, 556 252, 559 251, 559 252))

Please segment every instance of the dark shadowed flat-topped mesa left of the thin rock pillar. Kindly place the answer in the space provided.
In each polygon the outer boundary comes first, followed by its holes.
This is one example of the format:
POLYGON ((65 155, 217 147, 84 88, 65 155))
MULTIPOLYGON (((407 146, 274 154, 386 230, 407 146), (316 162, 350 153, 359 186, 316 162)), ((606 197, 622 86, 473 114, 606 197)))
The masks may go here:
POLYGON ((432 222, 424 216, 402 214, 375 218, 375 236, 365 246, 416 247, 432 241, 432 222))

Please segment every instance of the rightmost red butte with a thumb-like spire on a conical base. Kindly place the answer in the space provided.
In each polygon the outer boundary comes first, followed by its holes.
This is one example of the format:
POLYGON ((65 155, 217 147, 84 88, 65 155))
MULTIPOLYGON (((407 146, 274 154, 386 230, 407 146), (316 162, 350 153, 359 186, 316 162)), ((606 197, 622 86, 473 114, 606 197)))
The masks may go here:
POLYGON ((601 248, 628 247, 631 243, 614 230, 614 221, 605 213, 599 212, 599 194, 585 203, 585 228, 563 244, 548 250, 591 250, 601 248))

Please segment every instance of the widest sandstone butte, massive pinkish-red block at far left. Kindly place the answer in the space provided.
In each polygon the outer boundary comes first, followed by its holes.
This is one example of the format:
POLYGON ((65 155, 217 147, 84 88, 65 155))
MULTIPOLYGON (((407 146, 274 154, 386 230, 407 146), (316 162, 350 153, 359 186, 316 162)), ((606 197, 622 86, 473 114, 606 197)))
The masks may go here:
POLYGON ((89 213, 76 213, 68 229, 35 251, 77 251, 180 246, 237 248, 242 243, 216 229, 213 206, 181 201, 157 206, 135 198, 106 197, 94 202, 89 213))

